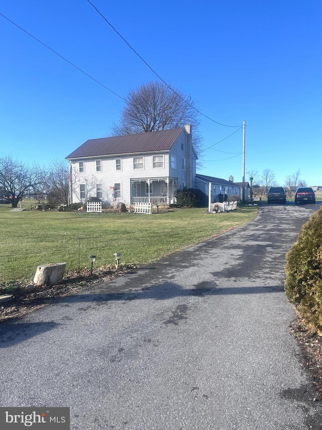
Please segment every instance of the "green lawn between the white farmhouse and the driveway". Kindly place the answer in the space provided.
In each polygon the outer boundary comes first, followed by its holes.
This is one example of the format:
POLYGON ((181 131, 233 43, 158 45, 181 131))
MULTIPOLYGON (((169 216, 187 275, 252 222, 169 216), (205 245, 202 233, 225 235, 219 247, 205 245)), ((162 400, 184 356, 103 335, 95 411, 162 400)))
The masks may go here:
POLYGON ((67 270, 83 269, 89 267, 90 254, 97 256, 94 268, 114 263, 115 252, 121 253, 120 263, 148 263, 245 224, 257 214, 256 207, 219 214, 204 208, 151 215, 10 209, 0 205, 0 283, 29 282, 41 264, 66 262, 67 270))

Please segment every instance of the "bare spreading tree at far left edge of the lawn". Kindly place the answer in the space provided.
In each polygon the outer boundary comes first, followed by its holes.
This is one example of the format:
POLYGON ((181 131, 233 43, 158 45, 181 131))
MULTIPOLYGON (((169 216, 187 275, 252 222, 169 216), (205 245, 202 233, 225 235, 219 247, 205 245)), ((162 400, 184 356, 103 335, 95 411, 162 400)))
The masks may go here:
POLYGON ((0 192, 13 208, 28 194, 42 191, 44 183, 43 168, 30 167, 9 155, 0 158, 0 192))

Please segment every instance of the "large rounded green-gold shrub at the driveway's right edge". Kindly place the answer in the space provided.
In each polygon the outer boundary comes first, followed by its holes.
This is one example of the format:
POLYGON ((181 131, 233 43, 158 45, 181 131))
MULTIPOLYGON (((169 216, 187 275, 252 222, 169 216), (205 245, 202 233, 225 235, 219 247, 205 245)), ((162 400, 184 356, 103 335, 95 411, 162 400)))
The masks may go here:
POLYGON ((286 256, 284 288, 298 314, 316 331, 322 331, 322 208, 299 232, 286 256))

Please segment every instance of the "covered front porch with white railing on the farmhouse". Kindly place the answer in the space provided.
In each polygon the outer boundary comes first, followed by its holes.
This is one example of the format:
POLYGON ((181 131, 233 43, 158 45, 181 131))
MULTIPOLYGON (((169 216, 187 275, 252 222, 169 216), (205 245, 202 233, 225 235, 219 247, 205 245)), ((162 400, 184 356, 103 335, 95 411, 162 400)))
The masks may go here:
POLYGON ((170 205, 175 203, 177 178, 138 178, 131 179, 131 204, 152 203, 170 205))

